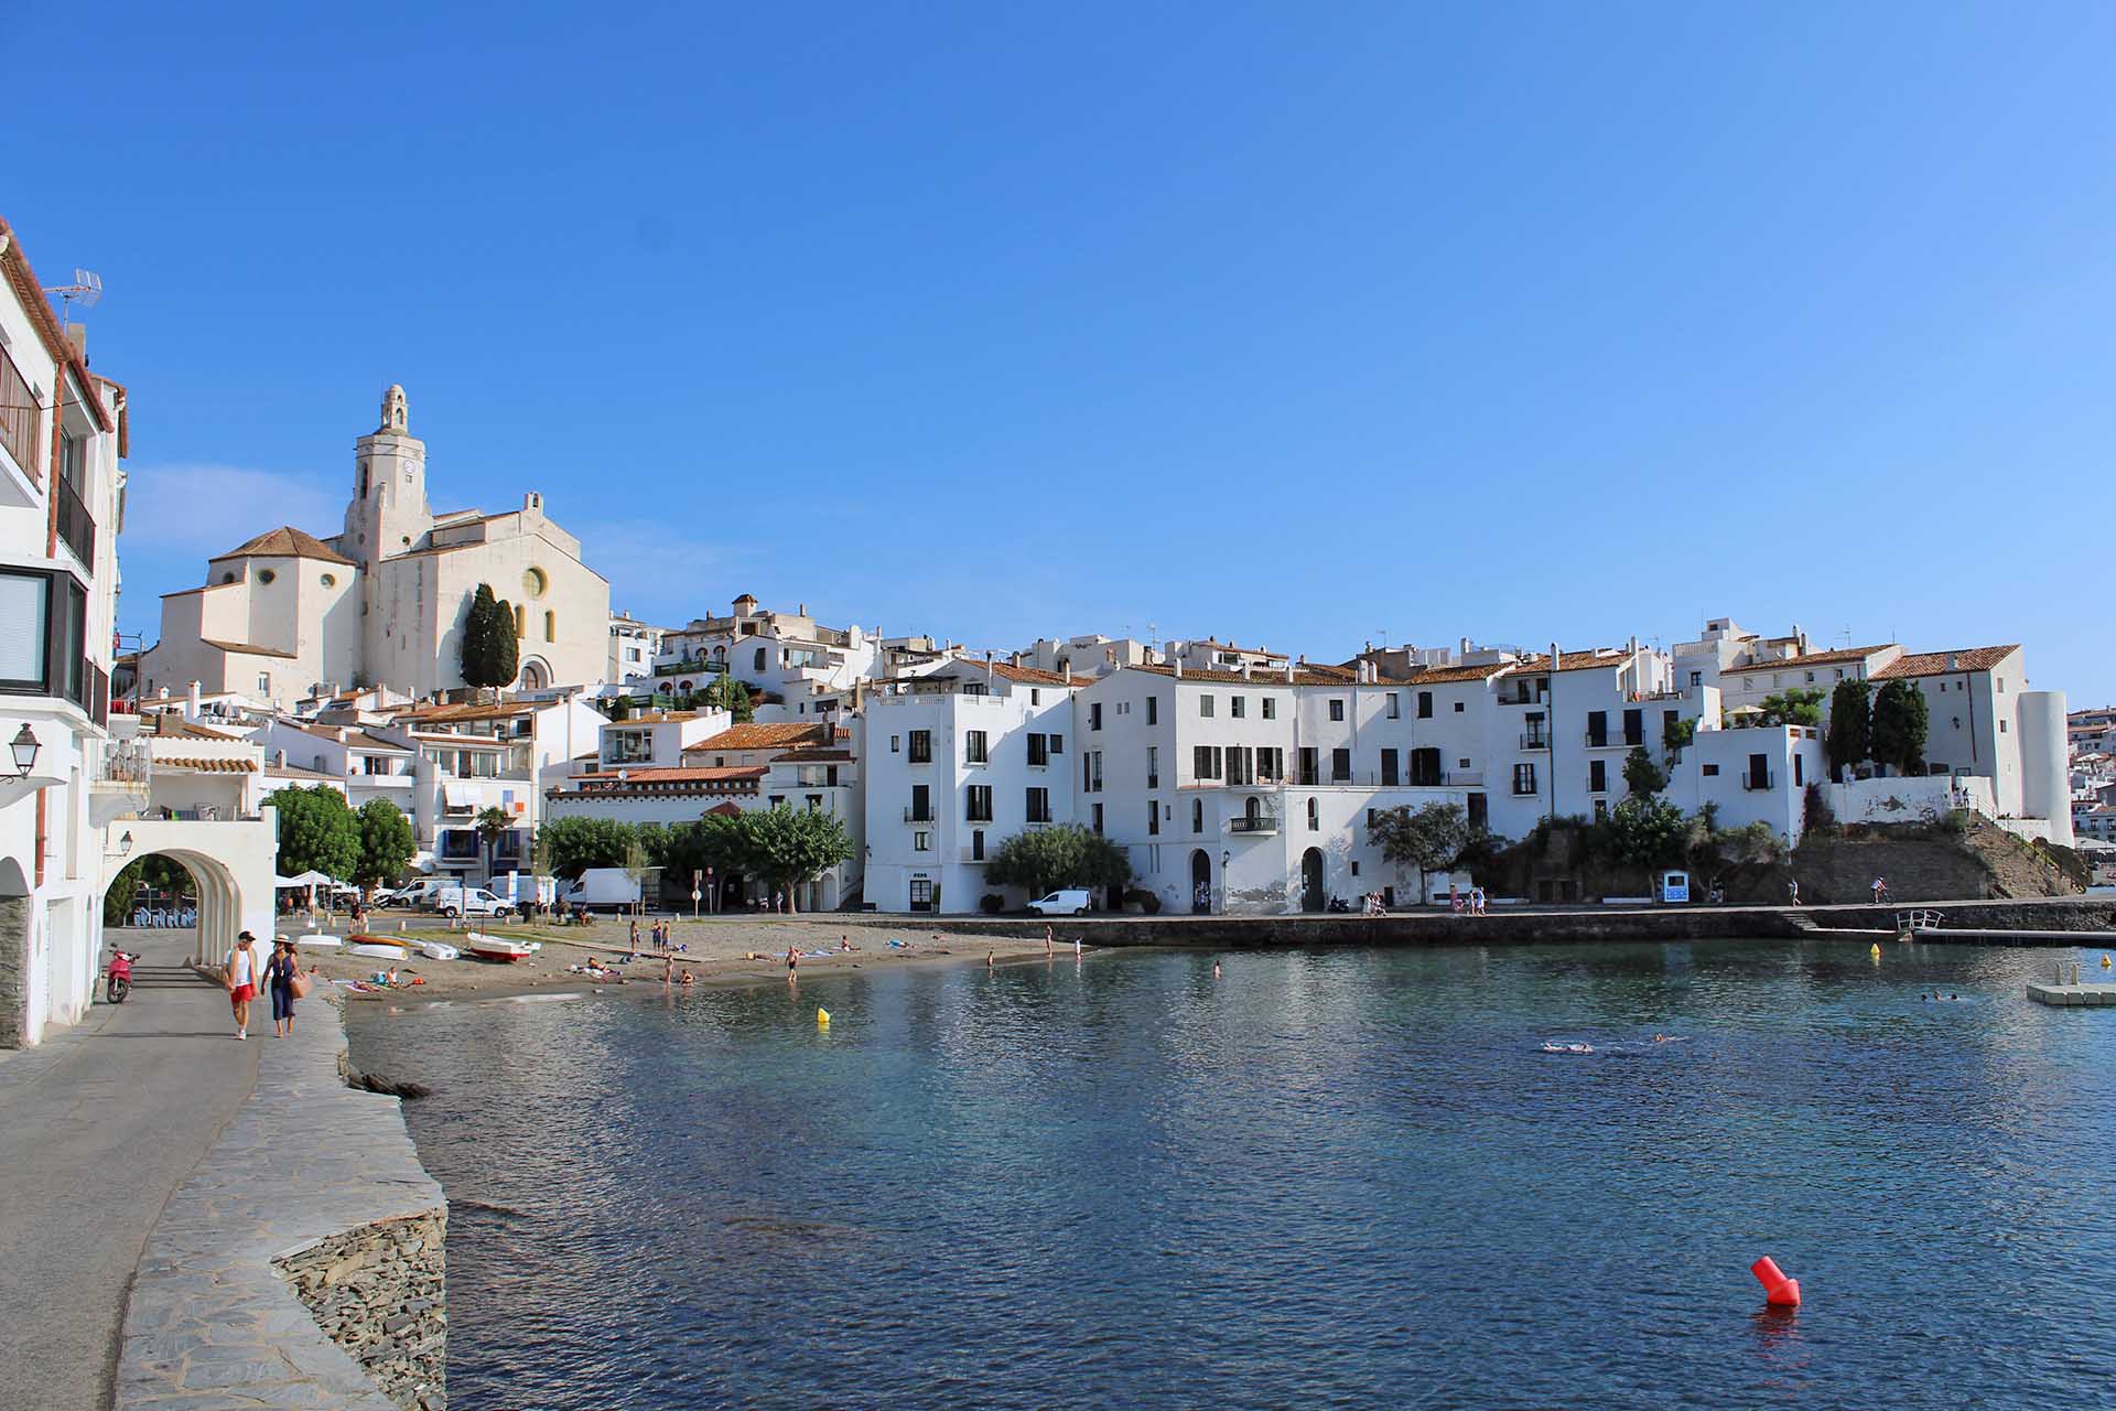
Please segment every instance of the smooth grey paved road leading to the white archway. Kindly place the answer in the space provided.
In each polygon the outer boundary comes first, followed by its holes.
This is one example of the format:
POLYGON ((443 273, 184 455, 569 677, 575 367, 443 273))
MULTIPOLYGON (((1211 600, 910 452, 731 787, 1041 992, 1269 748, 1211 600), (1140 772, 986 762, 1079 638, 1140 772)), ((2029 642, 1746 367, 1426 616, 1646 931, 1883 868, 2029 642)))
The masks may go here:
MULTIPOLYGON (((131 998, 0 1056, 0 1407, 104 1411, 125 1295, 157 1216, 256 1083, 190 931, 112 931, 144 952, 131 998)), ((256 1020, 256 1015, 252 1015, 256 1020)), ((258 1026, 254 1024, 252 1030, 258 1026)))

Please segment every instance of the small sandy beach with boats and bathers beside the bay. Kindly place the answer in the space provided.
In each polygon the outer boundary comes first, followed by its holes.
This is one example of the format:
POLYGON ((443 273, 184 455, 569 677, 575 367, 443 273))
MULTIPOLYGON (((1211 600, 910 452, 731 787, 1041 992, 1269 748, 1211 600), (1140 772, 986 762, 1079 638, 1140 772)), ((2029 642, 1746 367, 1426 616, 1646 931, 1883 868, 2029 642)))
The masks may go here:
MULTIPOLYGON (((446 929, 419 924, 425 918, 381 914, 368 918, 366 933, 377 939, 440 939, 461 948, 468 929, 446 929), (404 931, 400 933, 400 924, 404 931)), ((908 918, 910 920, 910 918, 908 918)), ((834 924, 829 918, 808 916, 730 916, 707 920, 675 920, 667 960, 675 969, 677 982, 686 973, 692 984, 785 984, 787 948, 798 948, 798 977, 834 975, 853 969, 904 969, 916 965, 965 965, 982 963, 988 954, 995 965, 1041 960, 1043 939, 1018 935, 933 935, 916 927, 872 927, 834 924), (891 946, 889 941, 906 941, 891 946), (851 941, 855 950, 840 946, 851 941)), ((324 935, 349 941, 349 924, 324 924, 324 935)), ((628 956, 631 927, 626 920, 599 918, 590 927, 521 927, 495 924, 478 927, 487 935, 504 935, 521 941, 542 941, 542 950, 512 965, 474 960, 427 960, 411 954, 396 965, 400 986, 394 990, 362 992, 332 986, 349 1001, 425 1003, 438 998, 508 998, 537 992, 582 992, 622 994, 660 990, 664 956, 650 943, 647 920, 639 922, 639 952, 628 956), (582 973, 567 967, 597 965, 614 975, 582 973), (411 984, 417 982, 417 984, 411 984)), ((284 935, 296 937, 288 929, 284 935)), ((1073 954, 1073 941, 1060 937, 1054 946, 1058 958, 1073 954)), ((387 971, 389 960, 377 956, 349 956, 334 950, 305 948, 303 967, 315 967, 328 982, 353 979, 372 982, 377 971, 387 971)), ((322 986, 320 986, 322 988, 322 986)))

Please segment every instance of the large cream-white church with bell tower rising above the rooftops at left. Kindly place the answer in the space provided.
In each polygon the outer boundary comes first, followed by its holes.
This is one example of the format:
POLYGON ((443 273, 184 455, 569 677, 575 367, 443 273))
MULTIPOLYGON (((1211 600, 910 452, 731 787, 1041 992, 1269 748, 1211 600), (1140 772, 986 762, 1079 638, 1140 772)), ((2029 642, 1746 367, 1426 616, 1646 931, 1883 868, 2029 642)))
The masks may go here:
POLYGON ((402 387, 353 448, 353 499, 328 539, 292 525, 207 561, 205 584, 161 599, 140 694, 235 692, 286 709, 320 685, 427 696, 463 685, 461 633, 478 584, 514 609, 523 690, 586 685, 609 666, 609 582, 580 539, 521 510, 434 514, 425 442, 402 387))

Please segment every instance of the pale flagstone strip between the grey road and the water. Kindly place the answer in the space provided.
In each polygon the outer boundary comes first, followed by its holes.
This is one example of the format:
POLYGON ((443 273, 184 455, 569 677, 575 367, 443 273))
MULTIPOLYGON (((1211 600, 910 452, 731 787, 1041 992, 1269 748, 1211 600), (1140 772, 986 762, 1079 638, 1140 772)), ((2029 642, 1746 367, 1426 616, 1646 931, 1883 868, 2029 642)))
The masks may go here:
POLYGON ((432 1261, 425 1273, 436 1297, 419 1299, 432 1307, 377 1307, 372 1328, 347 1333, 379 1339, 381 1352, 394 1356, 413 1352, 396 1345, 406 1333, 438 1341, 436 1328, 446 1326, 438 1299, 446 1202, 419 1166, 396 1098, 345 1087, 345 1030, 336 1005, 320 994, 303 1003, 294 1039, 273 1041, 267 1022, 262 1045, 252 1034, 252 1047, 262 1053, 252 1100, 169 1199, 140 1261, 116 1405, 440 1407, 440 1386, 425 1388, 423 1400, 417 1386, 400 1390, 398 1400, 385 1396, 362 1362, 324 1337, 294 1284, 275 1271, 317 1250, 330 1267, 315 1280, 341 1278, 347 1265, 398 1269, 411 1250, 432 1261), (347 1233, 358 1240, 368 1229, 379 1231, 375 1250, 349 1257, 347 1233))

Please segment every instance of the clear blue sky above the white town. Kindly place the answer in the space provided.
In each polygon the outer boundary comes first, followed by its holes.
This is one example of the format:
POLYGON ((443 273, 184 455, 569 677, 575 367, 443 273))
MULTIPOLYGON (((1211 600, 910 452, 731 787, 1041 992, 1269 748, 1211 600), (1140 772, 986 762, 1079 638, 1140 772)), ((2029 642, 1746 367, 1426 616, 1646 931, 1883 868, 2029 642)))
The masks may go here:
POLYGON ((1009 647, 2025 641, 2116 698, 2105 6, 112 6, 11 19, 125 626, 436 508, 614 603, 1009 647), (442 13, 446 11, 446 13, 442 13), (40 127, 42 125, 42 127, 40 127))

